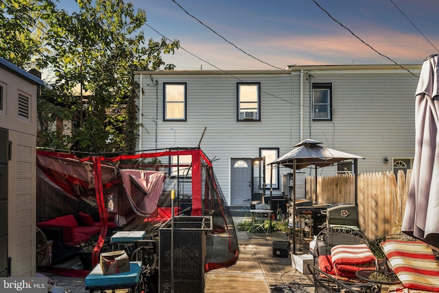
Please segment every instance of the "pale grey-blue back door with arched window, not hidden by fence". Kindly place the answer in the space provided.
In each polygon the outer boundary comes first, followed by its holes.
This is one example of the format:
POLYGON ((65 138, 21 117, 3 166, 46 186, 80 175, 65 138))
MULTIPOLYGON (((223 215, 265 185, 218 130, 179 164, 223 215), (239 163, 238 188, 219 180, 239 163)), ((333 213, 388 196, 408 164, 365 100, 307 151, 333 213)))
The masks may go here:
POLYGON ((230 205, 250 205, 252 159, 231 159, 230 205))

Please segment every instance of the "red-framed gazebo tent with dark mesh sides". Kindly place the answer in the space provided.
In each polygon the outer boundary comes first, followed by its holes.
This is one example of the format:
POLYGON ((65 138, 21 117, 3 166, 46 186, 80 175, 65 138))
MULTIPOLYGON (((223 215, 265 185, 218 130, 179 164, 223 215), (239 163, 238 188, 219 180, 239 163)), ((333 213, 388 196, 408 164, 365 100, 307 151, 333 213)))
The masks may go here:
POLYGON ((206 271, 237 261, 233 218, 213 165, 200 148, 86 156, 37 150, 37 175, 37 223, 80 212, 101 223, 93 266, 108 242, 109 226, 154 235, 171 215, 182 214, 213 218, 206 271))

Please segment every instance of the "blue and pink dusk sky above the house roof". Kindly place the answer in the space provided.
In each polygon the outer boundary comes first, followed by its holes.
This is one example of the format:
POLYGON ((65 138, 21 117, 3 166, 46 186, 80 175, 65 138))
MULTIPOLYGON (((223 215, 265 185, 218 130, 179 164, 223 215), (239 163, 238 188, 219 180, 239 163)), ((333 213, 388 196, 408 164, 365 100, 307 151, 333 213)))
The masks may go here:
MULTIPOLYGON (((165 62, 176 65, 176 70, 276 70, 287 65, 394 62, 421 65, 427 56, 439 54, 438 0, 130 2, 145 10, 147 25, 171 40, 180 40, 181 47, 190 52, 179 49, 174 56, 165 56, 165 62)), ((61 7, 65 5, 61 3, 61 7)), ((161 35, 150 27, 144 27, 145 36, 160 40, 161 35)))

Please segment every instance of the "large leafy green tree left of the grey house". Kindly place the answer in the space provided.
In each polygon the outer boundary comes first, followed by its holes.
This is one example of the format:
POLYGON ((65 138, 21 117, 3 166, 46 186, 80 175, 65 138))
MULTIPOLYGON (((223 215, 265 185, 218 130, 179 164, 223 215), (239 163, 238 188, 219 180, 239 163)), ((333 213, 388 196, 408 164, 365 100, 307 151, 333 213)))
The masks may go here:
MULTIPOLYGON (((1 3, 16 5, 14 0, 1 3)), ((23 42, 25 48, 36 40, 44 44, 45 51, 36 51, 34 58, 56 78, 38 101, 38 145, 83 152, 134 150, 139 124, 130 65, 143 70, 174 69, 161 54, 173 54, 178 40, 150 39, 145 47, 141 31, 145 11, 134 12, 133 5, 122 0, 78 0, 78 12, 72 14, 44 3, 46 6, 35 1, 34 5, 45 30, 43 37, 27 35, 23 42), (71 121, 69 135, 63 134, 66 129, 60 121, 71 121)), ((27 16, 8 9, 3 14, 8 12, 10 19, 30 19, 34 10, 21 10, 27 16)))

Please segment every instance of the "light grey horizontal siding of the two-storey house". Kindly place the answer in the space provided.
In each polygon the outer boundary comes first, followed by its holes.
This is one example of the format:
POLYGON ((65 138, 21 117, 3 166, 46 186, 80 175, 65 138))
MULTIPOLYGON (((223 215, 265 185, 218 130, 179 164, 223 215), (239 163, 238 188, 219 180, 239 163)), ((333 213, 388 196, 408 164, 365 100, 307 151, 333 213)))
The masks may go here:
MULTIPOLYGON (((420 71, 420 65, 406 68, 415 74, 420 71)), ((397 66, 310 66, 293 67, 291 72, 137 71, 135 78, 142 89, 138 149, 196 147, 206 128, 200 147, 214 159, 215 174, 229 203, 231 159, 258 157, 260 148, 279 148, 282 155, 302 139, 312 138, 364 156, 359 161, 361 173, 391 171, 393 158, 414 155, 418 79, 397 66), (163 121, 164 82, 187 83, 187 121, 163 121), (237 121, 237 82, 261 83, 261 121, 237 121), (332 121, 310 117, 314 82, 332 84, 332 121), (383 163, 384 157, 389 164, 383 163)), ((303 171, 313 174, 310 169, 303 171)), ((280 179, 289 172, 281 167, 280 179)), ((319 174, 335 172, 336 167, 319 170, 319 174)))

